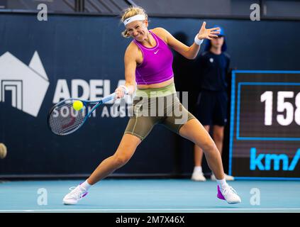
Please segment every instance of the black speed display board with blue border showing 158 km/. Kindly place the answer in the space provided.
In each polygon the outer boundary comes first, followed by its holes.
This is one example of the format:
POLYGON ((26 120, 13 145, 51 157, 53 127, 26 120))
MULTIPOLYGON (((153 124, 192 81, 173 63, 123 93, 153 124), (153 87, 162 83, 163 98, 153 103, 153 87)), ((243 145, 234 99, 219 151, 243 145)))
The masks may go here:
POLYGON ((300 180, 300 71, 232 74, 229 174, 300 180))

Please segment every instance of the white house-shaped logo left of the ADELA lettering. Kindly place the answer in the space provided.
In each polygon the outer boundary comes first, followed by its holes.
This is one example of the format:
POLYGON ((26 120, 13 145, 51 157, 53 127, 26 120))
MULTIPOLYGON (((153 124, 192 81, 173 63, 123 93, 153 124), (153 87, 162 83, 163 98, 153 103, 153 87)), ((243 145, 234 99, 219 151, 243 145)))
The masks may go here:
POLYGON ((29 65, 10 52, 0 56, 0 101, 6 101, 10 92, 11 106, 36 117, 48 87, 49 80, 37 51, 29 65))

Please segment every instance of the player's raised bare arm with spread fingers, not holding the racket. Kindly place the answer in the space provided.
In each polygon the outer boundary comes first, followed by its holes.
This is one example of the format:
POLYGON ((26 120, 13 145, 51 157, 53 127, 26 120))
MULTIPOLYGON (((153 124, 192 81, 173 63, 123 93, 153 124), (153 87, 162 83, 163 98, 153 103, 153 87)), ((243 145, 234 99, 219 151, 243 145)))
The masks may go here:
MULTIPOLYGON (((196 34, 196 37, 199 40, 203 40, 204 38, 207 38, 209 40, 212 40, 213 38, 217 38, 220 33, 220 28, 205 28, 206 22, 202 23, 202 26, 199 30, 199 33, 196 34)), ((163 28, 162 28, 163 29, 163 28)), ((174 38, 173 35, 171 35, 168 31, 165 30, 165 34, 167 36, 167 44, 170 45, 171 48, 179 52, 184 57, 187 57, 188 59, 194 59, 196 58, 196 55, 198 54, 200 50, 200 45, 197 45, 196 43, 193 43, 190 47, 185 45, 184 43, 180 42, 176 38, 174 38)))

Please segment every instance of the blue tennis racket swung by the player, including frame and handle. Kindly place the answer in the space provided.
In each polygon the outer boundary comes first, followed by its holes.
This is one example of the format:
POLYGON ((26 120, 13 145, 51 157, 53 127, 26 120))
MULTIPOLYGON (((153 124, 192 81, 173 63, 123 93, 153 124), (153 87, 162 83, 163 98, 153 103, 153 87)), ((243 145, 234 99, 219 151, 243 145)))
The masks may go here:
POLYGON ((87 101, 81 99, 65 99, 53 106, 48 114, 48 126, 56 135, 69 135, 77 131, 93 111, 116 96, 115 93, 105 96, 98 101, 87 101), (82 109, 79 111, 73 107, 74 101, 82 101, 82 109), (90 107, 90 108, 88 108, 90 107))

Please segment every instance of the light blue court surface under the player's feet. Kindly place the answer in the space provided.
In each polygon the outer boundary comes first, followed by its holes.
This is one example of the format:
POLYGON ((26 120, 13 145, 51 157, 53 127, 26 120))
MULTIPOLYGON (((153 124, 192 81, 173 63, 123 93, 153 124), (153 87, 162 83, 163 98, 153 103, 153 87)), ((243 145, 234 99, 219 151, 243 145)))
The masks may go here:
POLYGON ((91 187, 89 194, 79 204, 63 205, 62 198, 70 192, 69 188, 82 181, 1 182, 0 212, 300 212, 300 182, 297 181, 228 182, 242 199, 241 204, 230 205, 216 198, 216 182, 210 180, 193 182, 190 179, 104 179, 91 187))

